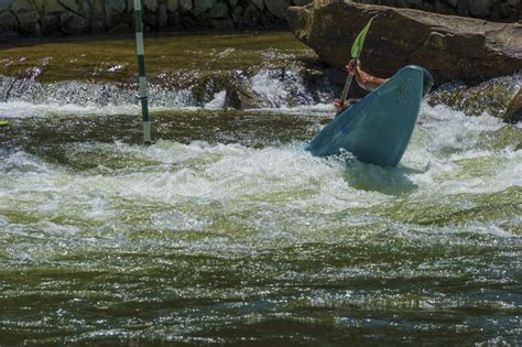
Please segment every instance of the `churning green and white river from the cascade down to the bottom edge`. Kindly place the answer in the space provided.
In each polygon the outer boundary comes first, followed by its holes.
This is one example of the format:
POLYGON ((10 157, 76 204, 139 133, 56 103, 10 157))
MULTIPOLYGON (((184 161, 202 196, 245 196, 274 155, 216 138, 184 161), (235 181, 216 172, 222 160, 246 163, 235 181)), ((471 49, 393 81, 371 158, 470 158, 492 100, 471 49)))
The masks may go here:
POLYGON ((3 77, 0 345, 522 344, 520 126, 424 104, 399 167, 314 158, 298 66, 153 91, 151 147, 123 89, 3 77))

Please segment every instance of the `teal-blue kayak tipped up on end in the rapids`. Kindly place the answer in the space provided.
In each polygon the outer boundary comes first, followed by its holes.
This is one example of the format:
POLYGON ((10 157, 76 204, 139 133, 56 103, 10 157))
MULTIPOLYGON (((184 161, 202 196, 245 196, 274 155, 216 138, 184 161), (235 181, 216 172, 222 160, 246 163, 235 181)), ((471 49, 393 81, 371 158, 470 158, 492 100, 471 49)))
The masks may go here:
POLYGON ((365 163, 398 165, 421 110, 425 74, 420 66, 402 68, 329 122, 307 150, 317 156, 346 150, 365 163))

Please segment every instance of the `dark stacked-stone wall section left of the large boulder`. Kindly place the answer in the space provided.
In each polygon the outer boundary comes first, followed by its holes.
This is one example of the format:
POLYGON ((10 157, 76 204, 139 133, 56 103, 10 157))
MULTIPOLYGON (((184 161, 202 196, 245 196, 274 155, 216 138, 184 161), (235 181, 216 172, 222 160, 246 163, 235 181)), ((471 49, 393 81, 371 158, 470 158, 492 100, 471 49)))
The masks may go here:
MULTIPOLYGON (((312 0, 143 0, 146 31, 281 28, 312 0)), ((128 33, 132 0, 0 0, 0 36, 128 33)))

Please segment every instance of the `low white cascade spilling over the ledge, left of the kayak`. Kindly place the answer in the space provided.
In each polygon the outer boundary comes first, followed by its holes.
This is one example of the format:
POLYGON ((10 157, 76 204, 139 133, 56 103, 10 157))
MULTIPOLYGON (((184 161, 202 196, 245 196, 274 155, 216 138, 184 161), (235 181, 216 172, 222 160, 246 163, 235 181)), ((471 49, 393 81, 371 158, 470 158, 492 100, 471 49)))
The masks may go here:
MULTIPOLYGON (((289 108, 330 102, 339 87, 320 71, 292 62, 202 75, 183 72, 151 78, 150 104, 154 108, 289 108), (219 100, 217 100, 217 98, 219 100)), ((0 102, 107 107, 138 104, 138 84, 63 80, 42 83, 35 78, 0 76, 0 102)))

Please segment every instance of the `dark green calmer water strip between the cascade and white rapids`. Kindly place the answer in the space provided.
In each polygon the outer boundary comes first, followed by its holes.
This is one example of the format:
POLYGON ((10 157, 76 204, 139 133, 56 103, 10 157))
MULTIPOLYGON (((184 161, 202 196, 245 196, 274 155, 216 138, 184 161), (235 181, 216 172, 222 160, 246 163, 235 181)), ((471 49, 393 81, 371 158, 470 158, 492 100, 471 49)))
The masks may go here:
MULTIPOLYGON (((262 149, 313 135, 317 117, 254 113, 236 110, 170 110, 152 117, 153 139, 188 144, 238 143, 262 149)), ((0 130, 0 148, 8 152, 23 151, 52 163, 70 165, 70 144, 78 143, 142 143, 141 119, 134 115, 67 115, 12 119, 0 130)), ((79 170, 96 166, 85 162, 79 170)), ((75 166, 75 165, 73 165, 75 166)))

